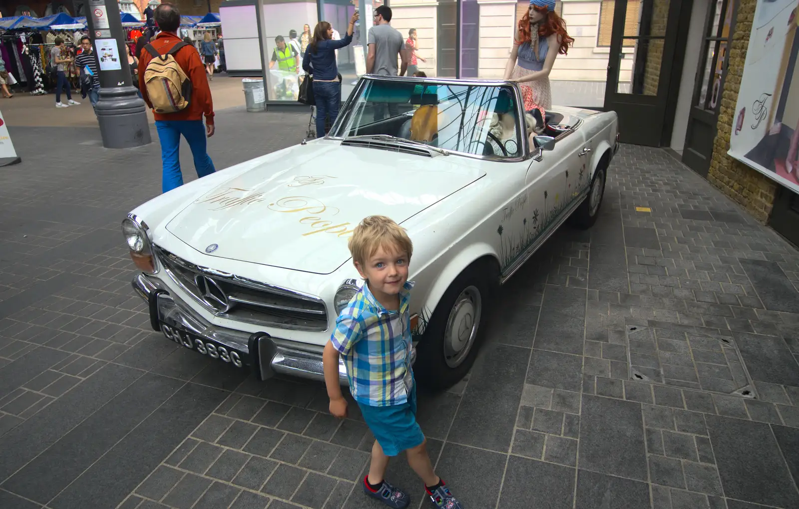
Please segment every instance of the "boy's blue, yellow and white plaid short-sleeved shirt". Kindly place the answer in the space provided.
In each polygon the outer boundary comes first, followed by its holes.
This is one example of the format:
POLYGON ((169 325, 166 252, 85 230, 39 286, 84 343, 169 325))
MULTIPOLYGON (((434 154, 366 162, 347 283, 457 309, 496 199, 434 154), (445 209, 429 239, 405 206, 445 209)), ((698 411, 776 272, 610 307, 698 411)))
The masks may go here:
POLYGON ((364 282, 336 319, 330 341, 344 356, 352 397, 360 404, 388 406, 407 401, 411 371, 412 282, 400 290, 400 309, 377 302, 364 282))

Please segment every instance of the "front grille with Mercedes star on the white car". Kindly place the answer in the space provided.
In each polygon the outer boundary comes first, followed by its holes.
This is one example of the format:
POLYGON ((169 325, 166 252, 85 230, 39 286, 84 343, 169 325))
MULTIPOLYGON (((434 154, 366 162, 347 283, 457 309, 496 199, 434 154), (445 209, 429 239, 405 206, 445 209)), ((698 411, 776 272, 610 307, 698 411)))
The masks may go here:
POLYGON ((328 328, 318 297, 197 266, 162 247, 154 246, 154 252, 169 278, 218 317, 280 329, 328 328))

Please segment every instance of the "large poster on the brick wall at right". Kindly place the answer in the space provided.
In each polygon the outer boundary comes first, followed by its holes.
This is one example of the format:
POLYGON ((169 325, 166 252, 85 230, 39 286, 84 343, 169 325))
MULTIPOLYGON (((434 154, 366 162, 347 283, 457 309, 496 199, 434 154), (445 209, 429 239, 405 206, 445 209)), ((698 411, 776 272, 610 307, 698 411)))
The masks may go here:
POLYGON ((799 193, 799 0, 757 0, 729 156, 799 193))

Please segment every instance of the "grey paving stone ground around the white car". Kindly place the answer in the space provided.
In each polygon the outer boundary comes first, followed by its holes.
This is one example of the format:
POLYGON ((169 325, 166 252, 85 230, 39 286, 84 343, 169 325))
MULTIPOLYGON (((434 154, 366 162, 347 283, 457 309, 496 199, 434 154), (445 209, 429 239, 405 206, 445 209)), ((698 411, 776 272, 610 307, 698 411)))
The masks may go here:
MULTIPOLYGON (((306 123, 218 112, 209 152, 225 168, 306 123)), ((157 144, 12 136, 0 507, 379 507, 355 404, 336 420, 318 383, 259 383, 148 328, 118 224, 160 190, 157 144)), ((665 152, 622 146, 595 227, 563 227, 508 283, 466 381, 419 394, 437 472, 471 509, 799 507, 797 286, 794 247, 665 152)), ((426 504, 403 460, 389 475, 426 504)))

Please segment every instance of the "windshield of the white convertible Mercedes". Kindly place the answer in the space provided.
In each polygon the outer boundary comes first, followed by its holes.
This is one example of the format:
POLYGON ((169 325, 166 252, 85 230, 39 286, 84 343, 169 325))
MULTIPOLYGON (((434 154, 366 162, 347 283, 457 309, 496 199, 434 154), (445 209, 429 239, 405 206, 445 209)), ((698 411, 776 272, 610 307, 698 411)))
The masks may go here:
POLYGON ((332 136, 375 137, 475 156, 523 156, 515 90, 422 79, 368 79, 332 136))

